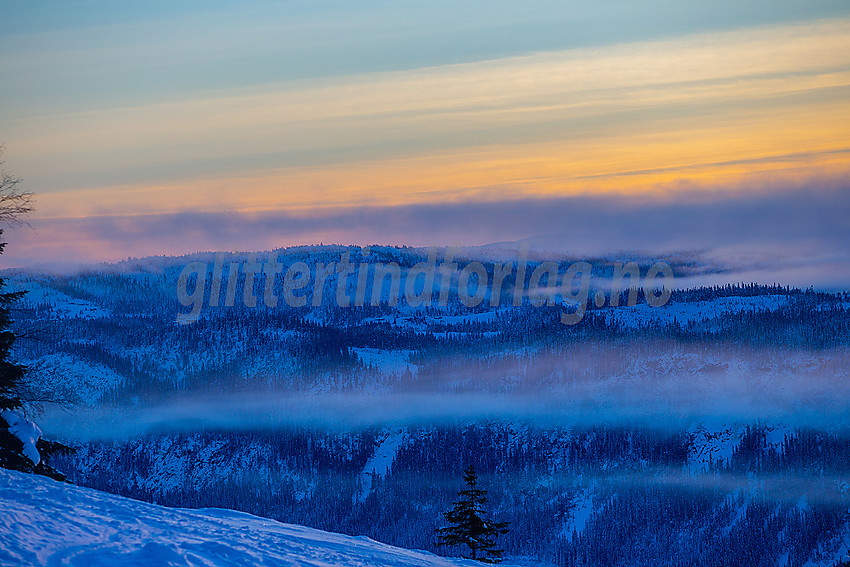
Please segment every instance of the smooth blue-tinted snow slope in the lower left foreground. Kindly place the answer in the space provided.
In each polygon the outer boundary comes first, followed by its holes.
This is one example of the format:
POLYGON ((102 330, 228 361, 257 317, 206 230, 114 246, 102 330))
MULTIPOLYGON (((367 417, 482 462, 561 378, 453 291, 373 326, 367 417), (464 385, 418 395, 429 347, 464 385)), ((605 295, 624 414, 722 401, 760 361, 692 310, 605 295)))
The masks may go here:
POLYGON ((481 564, 230 510, 165 508, 0 469, 0 565, 481 564))

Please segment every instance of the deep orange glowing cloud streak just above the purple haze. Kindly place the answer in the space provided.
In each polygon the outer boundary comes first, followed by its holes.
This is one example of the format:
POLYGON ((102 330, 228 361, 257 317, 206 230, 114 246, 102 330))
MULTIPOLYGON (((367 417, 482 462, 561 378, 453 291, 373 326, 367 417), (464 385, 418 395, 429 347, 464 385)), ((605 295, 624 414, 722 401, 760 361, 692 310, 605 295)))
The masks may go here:
MULTIPOLYGON (((39 196, 47 217, 404 205, 740 186, 850 171, 850 105, 740 109, 647 131, 39 196)), ((628 131, 631 130, 631 131, 628 131)))

